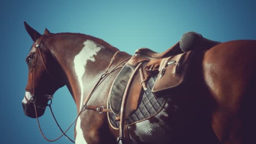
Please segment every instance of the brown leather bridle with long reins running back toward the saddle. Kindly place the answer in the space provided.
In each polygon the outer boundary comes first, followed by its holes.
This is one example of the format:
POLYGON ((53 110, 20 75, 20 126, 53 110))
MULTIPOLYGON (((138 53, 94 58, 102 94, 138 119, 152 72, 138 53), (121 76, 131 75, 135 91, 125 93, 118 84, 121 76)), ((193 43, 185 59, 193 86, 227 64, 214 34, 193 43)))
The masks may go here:
POLYGON ((52 104, 52 99, 53 99, 53 95, 48 95, 48 94, 40 94, 42 96, 46 96, 48 101, 50 101, 50 103, 48 103, 46 106, 39 106, 36 104, 36 95, 35 95, 35 68, 36 68, 36 62, 37 62, 37 53, 39 52, 41 58, 42 58, 42 61, 43 61, 43 66, 45 68, 45 71, 47 72, 48 75, 50 75, 54 80, 56 80, 56 82, 59 82, 55 77, 53 77, 53 75, 51 75, 51 73, 48 71, 48 69, 46 68, 46 65, 45 65, 45 61, 43 59, 43 55, 42 55, 42 52, 40 50, 40 45, 41 45, 41 42, 43 40, 43 38, 45 37, 45 35, 47 34, 44 34, 40 37, 40 39, 38 40, 39 41, 39 44, 35 43, 33 44, 33 46, 36 49, 35 51, 35 54, 34 54, 34 58, 32 59, 32 64, 31 64, 31 71, 30 72, 33 72, 32 73, 32 80, 31 80, 31 91, 32 91, 32 97, 30 99, 27 99, 27 97, 25 96, 25 99, 31 103, 34 104, 34 108, 35 108, 35 115, 36 115, 36 118, 37 118, 37 125, 38 125, 38 128, 40 130, 40 133, 41 135, 43 136, 43 138, 47 141, 56 141, 58 139, 60 139, 62 136, 66 136, 67 139, 69 139, 70 141, 72 141, 73 143, 75 143, 75 141, 73 141, 72 139, 70 139, 66 133, 67 131, 71 128, 71 126, 77 121, 77 118, 82 114, 83 111, 85 111, 85 109, 90 109, 90 110, 95 110, 99 113, 103 113, 103 112, 112 112, 111 109, 105 109, 103 106, 102 107, 96 107, 96 106, 87 106, 87 103, 89 101, 89 99, 91 98, 92 94, 94 93, 94 91, 96 90, 96 88, 98 88, 98 86, 106 79, 106 77, 112 73, 112 72, 115 72, 117 69, 120 69, 122 68, 124 65, 125 65, 125 61, 130 59, 131 57, 128 57, 127 59, 121 61, 119 64, 117 64, 112 70, 109 71, 110 67, 112 66, 113 64, 113 61, 115 59, 115 56, 117 55, 117 53, 119 53, 120 51, 116 51, 115 54, 112 56, 112 59, 111 61, 109 62, 109 65, 106 69, 106 71, 101 75, 101 77, 99 78, 99 80, 96 82, 96 84, 94 85, 93 89, 91 90, 91 92, 88 94, 88 96, 85 98, 85 101, 83 102, 83 106, 81 107, 80 109, 80 112, 77 114, 77 116, 75 117, 75 120, 69 125, 69 127, 67 128, 66 131, 63 131, 61 129, 61 127, 59 126, 59 123, 57 122, 54 114, 53 114, 53 111, 52 111, 52 108, 51 108, 51 104, 52 104), (38 51, 38 52, 37 52, 38 51), (122 65, 121 65, 122 64, 122 65), (46 107, 49 106, 50 110, 51 110, 51 114, 53 116, 53 119, 54 121, 56 122, 56 125, 59 127, 60 131, 62 132, 62 134, 57 137, 56 139, 53 139, 53 140, 50 140, 50 139, 47 139, 46 136, 43 134, 43 131, 40 127, 40 123, 39 123, 39 120, 38 120, 38 117, 37 117, 37 108, 41 108, 41 109, 46 109, 46 107))

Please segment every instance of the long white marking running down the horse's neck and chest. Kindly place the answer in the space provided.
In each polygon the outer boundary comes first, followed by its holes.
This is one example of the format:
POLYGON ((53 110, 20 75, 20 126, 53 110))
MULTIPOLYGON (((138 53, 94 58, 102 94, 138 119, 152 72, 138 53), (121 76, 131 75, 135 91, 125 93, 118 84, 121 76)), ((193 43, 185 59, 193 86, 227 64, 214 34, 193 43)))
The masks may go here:
MULTIPOLYGON (((97 53, 101 50, 101 48, 104 48, 103 46, 97 45, 92 40, 86 40, 84 43, 84 47, 82 50, 75 56, 74 59, 74 68, 75 72, 77 74, 77 80, 79 82, 80 86, 80 109, 83 106, 83 92, 84 92, 84 85, 83 85, 83 75, 85 74, 85 66, 87 64, 87 61, 95 61, 94 55, 97 55, 97 53)), ((83 130, 81 128, 81 119, 78 117, 77 123, 76 123, 76 138, 75 143, 76 144, 86 144, 86 141, 83 136, 83 130)))

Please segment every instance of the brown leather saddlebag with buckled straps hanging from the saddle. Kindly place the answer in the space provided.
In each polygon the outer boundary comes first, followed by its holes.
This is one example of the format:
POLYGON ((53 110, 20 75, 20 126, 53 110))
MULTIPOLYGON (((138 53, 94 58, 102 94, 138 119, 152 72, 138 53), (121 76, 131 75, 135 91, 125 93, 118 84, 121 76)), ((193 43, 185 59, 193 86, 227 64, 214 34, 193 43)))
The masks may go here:
POLYGON ((182 53, 176 56, 170 56, 161 61, 159 74, 152 92, 156 97, 162 97, 166 94, 175 93, 184 82, 185 74, 188 70, 189 58, 193 51, 182 53))

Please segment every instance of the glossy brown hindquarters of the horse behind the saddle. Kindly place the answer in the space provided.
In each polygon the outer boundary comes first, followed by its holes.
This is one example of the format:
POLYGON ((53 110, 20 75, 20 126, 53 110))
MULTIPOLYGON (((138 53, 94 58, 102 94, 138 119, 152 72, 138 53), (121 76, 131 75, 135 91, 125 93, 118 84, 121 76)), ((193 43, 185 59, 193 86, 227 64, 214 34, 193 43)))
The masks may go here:
POLYGON ((212 127, 225 144, 255 141, 255 53, 256 40, 235 40, 216 45, 203 57, 203 79, 214 100, 212 127))

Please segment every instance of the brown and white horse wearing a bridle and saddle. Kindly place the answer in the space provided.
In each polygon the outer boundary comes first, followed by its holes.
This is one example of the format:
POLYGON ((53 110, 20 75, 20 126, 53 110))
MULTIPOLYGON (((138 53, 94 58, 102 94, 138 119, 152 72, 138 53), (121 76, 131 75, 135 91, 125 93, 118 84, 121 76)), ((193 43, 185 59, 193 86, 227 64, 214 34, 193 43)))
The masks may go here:
MULTIPOLYGON (((24 114, 32 118, 42 116, 53 94, 66 85, 77 106, 75 143, 116 143, 119 131, 111 127, 103 110, 120 69, 109 72, 107 77, 102 74, 131 55, 117 53, 119 49, 93 36, 53 34, 48 29, 41 35, 24 24, 34 41, 26 58, 28 81, 22 101, 24 114), (104 80, 99 84, 101 77, 104 80), (88 106, 103 109, 90 110, 84 101, 88 106)), ((256 143, 253 137, 256 129, 255 45, 256 40, 235 40, 198 54, 186 87, 172 99, 168 98, 157 115, 130 125, 123 143, 256 143)))

